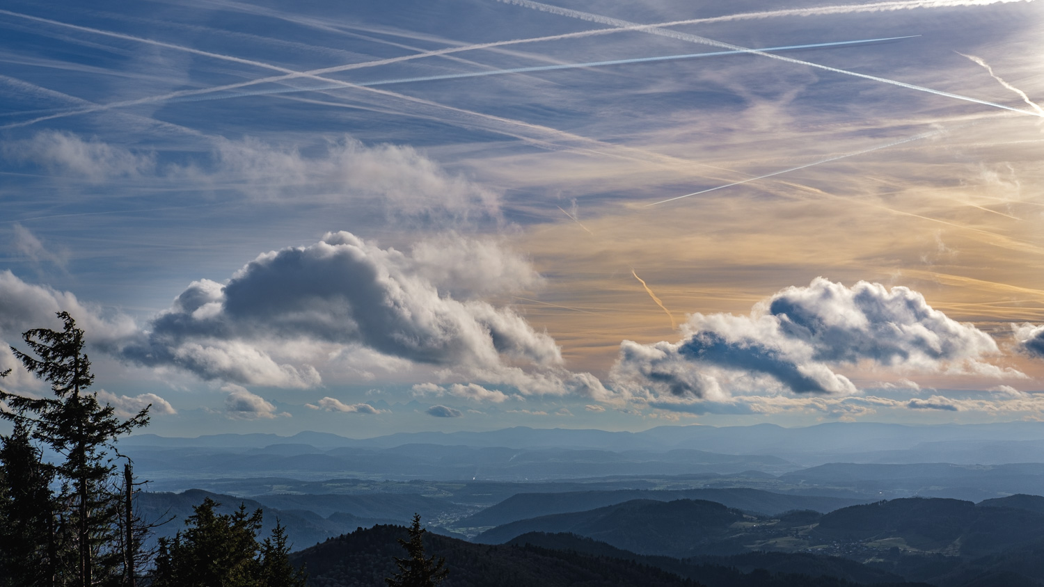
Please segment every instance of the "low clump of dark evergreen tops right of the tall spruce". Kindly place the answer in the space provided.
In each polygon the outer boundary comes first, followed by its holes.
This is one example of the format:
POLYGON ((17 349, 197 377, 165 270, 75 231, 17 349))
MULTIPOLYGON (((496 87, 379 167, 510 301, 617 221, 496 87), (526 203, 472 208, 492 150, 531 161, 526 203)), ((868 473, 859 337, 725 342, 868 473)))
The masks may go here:
POLYGON ((305 577, 290 564, 286 530, 276 524, 258 543, 261 510, 240 506, 218 514, 210 497, 193 507, 187 530, 160 539, 152 587, 304 587, 305 577))

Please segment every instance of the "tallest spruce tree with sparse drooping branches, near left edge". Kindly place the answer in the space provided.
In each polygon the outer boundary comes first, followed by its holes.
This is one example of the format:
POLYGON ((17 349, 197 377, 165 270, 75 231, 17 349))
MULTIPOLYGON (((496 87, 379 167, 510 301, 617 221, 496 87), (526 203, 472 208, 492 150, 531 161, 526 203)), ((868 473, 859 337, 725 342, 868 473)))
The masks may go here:
MULTIPOLYGON (((34 440, 65 458, 55 467, 63 483, 63 500, 76 552, 72 573, 76 587, 93 587, 118 573, 121 554, 113 545, 118 530, 119 496, 110 490, 117 437, 148 423, 148 407, 133 418, 116 417, 112 406, 98 402, 87 389, 94 383, 84 352, 84 331, 68 312, 60 312, 62 331, 32 328, 22 334, 29 347, 11 351, 22 365, 51 384, 53 397, 34 398, 0 390, 8 410, 0 417, 31 430, 34 440)), ((9 372, 9 371, 8 371, 9 372)), ((6 374, 6 373, 3 373, 6 374)))

